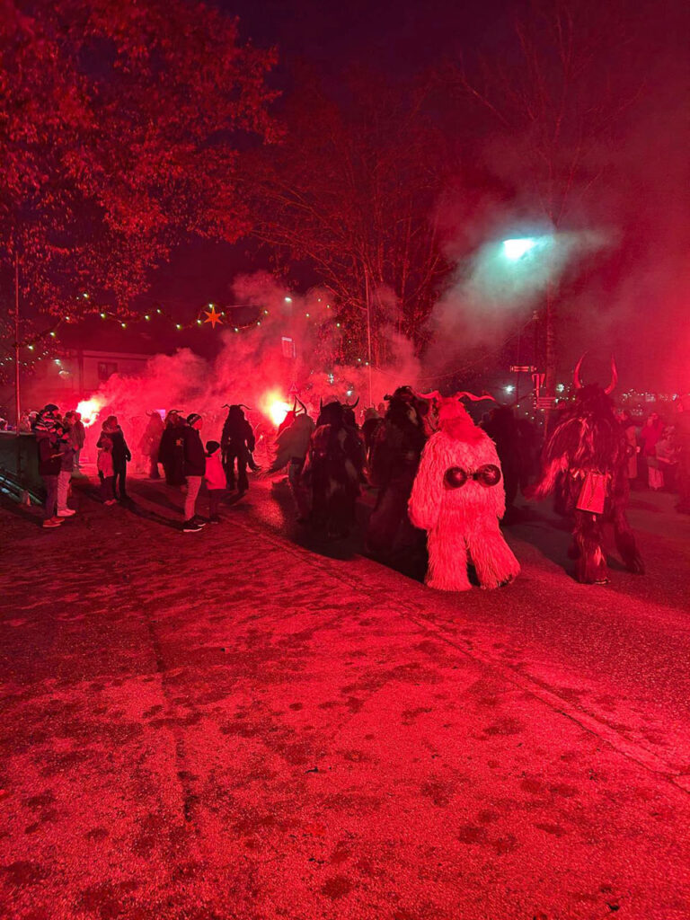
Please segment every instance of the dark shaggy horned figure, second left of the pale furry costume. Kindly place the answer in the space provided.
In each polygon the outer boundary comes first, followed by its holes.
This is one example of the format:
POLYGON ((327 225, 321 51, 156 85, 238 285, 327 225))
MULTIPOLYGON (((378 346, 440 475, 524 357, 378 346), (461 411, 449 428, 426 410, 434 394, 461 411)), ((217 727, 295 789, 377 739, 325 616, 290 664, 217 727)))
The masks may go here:
POLYGON ((330 536, 347 535, 360 494, 362 441, 347 424, 347 405, 321 409, 306 454, 302 480, 309 491, 310 523, 330 536))

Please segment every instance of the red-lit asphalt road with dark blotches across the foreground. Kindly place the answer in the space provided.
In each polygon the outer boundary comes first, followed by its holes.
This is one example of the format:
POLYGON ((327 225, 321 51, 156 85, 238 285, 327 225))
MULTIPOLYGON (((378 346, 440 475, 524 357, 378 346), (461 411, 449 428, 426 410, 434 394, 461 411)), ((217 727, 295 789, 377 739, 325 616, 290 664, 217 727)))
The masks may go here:
POLYGON ((280 483, 190 535, 132 494, 0 508, 1 916, 690 916, 672 496, 633 496, 644 577, 577 584, 524 505, 519 580, 447 595, 316 544, 280 483))

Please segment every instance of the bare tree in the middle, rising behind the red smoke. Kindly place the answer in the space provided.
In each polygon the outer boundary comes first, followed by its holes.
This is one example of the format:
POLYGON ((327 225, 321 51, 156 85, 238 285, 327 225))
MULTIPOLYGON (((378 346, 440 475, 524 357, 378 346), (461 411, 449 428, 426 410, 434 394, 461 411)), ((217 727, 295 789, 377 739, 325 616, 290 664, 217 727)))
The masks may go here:
POLYGON ((259 170, 252 158, 247 188, 256 236, 337 301, 341 356, 366 353, 368 312, 379 363, 391 328, 420 346, 448 269, 433 221, 445 142, 425 110, 425 86, 391 88, 360 74, 341 95, 329 98, 303 76, 285 143, 259 170))

